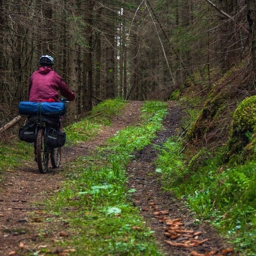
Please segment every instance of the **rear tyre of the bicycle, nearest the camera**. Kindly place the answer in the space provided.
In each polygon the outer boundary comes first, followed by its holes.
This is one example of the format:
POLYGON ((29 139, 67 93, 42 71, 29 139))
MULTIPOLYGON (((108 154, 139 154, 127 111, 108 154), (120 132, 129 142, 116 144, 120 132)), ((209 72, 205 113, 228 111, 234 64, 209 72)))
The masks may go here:
POLYGON ((36 136, 36 161, 40 173, 48 172, 49 151, 45 143, 44 129, 40 128, 36 136))

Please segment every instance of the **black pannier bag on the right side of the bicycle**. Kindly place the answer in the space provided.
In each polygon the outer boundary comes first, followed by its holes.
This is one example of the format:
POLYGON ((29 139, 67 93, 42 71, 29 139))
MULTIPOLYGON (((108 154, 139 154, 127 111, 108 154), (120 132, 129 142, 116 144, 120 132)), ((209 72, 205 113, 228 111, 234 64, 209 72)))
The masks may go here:
POLYGON ((47 127, 47 136, 46 136, 46 144, 50 148, 59 148, 65 145, 66 142, 66 133, 54 129, 52 127, 47 127))

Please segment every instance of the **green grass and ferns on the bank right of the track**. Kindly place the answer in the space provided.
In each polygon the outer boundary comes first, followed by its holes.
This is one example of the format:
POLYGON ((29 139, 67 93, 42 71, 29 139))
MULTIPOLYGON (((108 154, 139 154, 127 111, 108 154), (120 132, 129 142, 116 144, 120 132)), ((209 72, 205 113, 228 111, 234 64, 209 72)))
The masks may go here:
POLYGON ((256 255, 255 161, 224 165, 224 146, 214 156, 203 149, 188 159, 183 142, 169 138, 159 148, 156 166, 164 189, 184 200, 196 218, 212 223, 237 252, 256 255))

